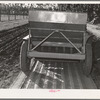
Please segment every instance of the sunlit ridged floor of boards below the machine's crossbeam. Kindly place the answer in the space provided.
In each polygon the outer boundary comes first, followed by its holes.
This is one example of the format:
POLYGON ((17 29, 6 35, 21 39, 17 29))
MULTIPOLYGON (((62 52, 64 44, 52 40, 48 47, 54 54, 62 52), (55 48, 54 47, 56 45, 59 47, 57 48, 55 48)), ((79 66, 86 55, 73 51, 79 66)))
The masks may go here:
POLYGON ((27 87, 30 89, 96 89, 91 76, 82 72, 82 63, 38 60, 27 87))

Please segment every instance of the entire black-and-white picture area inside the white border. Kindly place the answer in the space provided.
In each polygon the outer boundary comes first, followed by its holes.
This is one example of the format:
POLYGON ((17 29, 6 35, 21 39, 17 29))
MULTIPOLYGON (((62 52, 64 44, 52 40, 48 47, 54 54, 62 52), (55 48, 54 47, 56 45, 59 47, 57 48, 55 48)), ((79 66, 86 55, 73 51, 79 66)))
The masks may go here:
POLYGON ((100 3, 0 3, 0 89, 100 89, 100 3))

